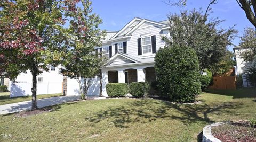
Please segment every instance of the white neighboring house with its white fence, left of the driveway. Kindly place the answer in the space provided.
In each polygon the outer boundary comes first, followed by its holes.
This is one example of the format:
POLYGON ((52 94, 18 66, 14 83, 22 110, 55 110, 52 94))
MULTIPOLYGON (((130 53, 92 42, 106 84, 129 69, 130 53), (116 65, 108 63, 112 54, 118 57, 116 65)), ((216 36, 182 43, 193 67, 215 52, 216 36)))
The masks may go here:
MULTIPOLYGON (((37 95, 62 93, 63 75, 60 74, 60 67, 51 66, 49 72, 43 72, 37 76, 37 95)), ((32 75, 27 73, 18 75, 15 82, 10 82, 10 97, 31 95, 32 75)))

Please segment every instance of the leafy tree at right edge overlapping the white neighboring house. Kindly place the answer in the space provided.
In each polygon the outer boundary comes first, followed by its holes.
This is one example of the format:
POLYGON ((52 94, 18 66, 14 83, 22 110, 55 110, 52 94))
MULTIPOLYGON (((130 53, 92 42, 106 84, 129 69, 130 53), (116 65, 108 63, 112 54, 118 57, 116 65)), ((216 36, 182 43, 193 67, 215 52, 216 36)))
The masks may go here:
POLYGON ((241 53, 244 61, 252 62, 256 60, 256 31, 253 28, 245 28, 240 40, 239 47, 248 48, 248 50, 241 53))

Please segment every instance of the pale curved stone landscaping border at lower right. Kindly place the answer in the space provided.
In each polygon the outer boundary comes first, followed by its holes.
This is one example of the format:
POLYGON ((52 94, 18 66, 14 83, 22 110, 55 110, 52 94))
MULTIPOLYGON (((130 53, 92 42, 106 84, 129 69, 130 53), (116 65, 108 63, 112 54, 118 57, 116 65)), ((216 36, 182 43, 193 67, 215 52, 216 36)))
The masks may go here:
POLYGON ((218 138, 215 138, 212 135, 212 127, 220 126, 220 125, 223 125, 223 124, 225 124, 225 123, 217 122, 217 123, 213 123, 211 125, 205 126, 204 129, 203 129, 202 142, 221 142, 218 138))

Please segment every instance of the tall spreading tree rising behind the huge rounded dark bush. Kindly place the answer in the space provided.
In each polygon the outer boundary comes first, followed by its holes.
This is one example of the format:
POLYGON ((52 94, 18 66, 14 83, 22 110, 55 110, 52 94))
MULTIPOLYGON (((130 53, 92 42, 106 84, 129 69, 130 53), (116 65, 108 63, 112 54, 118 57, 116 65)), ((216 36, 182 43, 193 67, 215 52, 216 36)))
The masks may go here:
POLYGON ((163 37, 167 44, 178 44, 194 48, 198 56, 200 71, 210 69, 225 55, 226 47, 237 32, 233 27, 221 29, 218 18, 207 20, 203 11, 183 11, 169 15, 171 38, 163 37))

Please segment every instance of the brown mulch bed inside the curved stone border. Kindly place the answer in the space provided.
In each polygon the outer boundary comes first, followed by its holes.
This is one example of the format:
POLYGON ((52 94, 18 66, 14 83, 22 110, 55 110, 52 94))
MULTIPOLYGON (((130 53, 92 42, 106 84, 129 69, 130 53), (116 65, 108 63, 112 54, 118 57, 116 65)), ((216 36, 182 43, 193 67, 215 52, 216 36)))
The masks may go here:
POLYGON ((221 141, 229 142, 256 142, 256 126, 251 126, 249 121, 229 122, 212 128, 212 135, 221 141))

